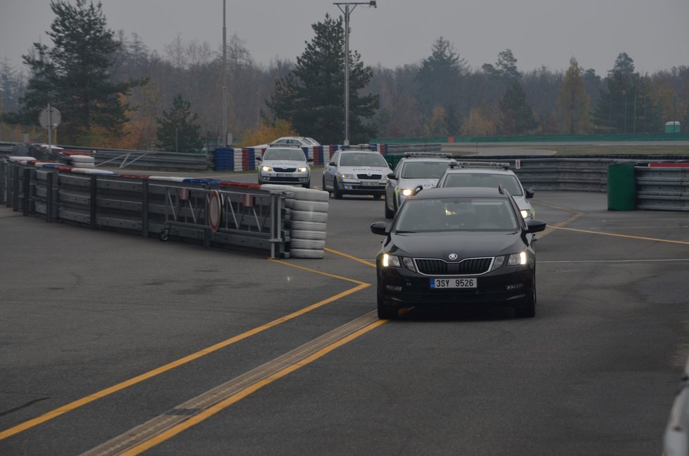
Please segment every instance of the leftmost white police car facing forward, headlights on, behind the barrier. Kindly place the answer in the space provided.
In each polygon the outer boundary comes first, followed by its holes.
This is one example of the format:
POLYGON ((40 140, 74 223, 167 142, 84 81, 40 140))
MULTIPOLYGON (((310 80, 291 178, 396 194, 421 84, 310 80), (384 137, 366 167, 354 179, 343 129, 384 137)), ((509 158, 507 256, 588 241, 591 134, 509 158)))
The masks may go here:
POLYGON ((299 147, 268 147, 257 156, 259 184, 292 184, 308 188, 311 185, 311 166, 299 147))

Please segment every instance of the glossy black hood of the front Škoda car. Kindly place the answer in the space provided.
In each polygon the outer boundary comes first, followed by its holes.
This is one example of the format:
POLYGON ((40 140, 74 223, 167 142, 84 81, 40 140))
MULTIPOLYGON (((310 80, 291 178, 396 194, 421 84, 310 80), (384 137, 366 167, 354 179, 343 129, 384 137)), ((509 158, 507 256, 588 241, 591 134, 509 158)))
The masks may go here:
POLYGON ((526 247, 521 235, 512 232, 404 233, 393 234, 390 254, 414 258, 442 258, 451 253, 459 259, 496 257, 521 252, 526 247))

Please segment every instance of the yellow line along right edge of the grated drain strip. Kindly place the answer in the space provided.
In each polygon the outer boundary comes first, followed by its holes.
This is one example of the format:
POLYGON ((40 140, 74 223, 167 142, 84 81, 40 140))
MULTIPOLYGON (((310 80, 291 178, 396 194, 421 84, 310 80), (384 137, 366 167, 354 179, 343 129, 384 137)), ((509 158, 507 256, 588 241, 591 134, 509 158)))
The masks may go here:
POLYGON ((371 331, 375 328, 378 328, 378 326, 382 325, 383 323, 386 323, 387 320, 378 320, 375 321, 368 326, 359 329, 359 331, 356 331, 352 334, 347 335, 347 337, 342 338, 341 340, 338 340, 337 342, 328 345, 326 347, 323 347, 321 350, 318 350, 315 352, 313 355, 310 355, 309 357, 306 357, 302 359, 300 362, 294 363, 290 366, 285 367, 285 369, 282 369, 275 374, 269 376, 268 378, 265 378, 261 381, 258 381, 254 383, 251 386, 248 386, 244 390, 240 391, 239 393, 236 393, 234 395, 231 395, 228 398, 225 398, 221 402, 218 402, 215 405, 212 405, 211 407, 204 409, 203 411, 199 412, 198 414, 193 415, 189 419, 185 420, 184 422, 173 426, 172 428, 164 431, 163 433, 160 433, 159 435, 155 436, 154 438, 151 438, 150 440, 147 440, 146 442, 137 445, 135 448, 132 448, 129 451, 125 451, 120 453, 121 456, 133 456, 133 455, 138 455, 141 452, 144 452, 146 450, 149 450, 153 448, 156 445, 159 445, 160 443, 163 443, 164 441, 178 435, 182 431, 186 431, 192 426, 195 426, 201 421, 204 421, 208 419, 209 417, 212 417, 214 414, 221 412, 223 409, 230 407, 230 405, 235 404, 236 402, 239 402, 240 400, 246 398, 247 396, 251 395, 252 393, 255 393, 257 390, 263 388, 263 386, 269 385, 273 383, 274 381, 278 380, 279 378, 283 378, 287 374, 291 374, 292 372, 296 371, 297 369, 300 369, 307 364, 311 364, 311 362, 316 361, 316 359, 321 358, 328 353, 332 352, 338 347, 341 347, 342 345, 351 342, 352 340, 359 338, 359 336, 364 335, 368 333, 368 331, 371 331))

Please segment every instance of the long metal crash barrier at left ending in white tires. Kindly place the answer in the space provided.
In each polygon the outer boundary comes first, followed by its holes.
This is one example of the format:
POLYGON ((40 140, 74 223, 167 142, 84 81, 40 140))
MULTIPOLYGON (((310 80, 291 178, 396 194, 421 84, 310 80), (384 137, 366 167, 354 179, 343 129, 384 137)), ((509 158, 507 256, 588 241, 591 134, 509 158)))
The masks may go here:
POLYGON ((0 202, 46 222, 244 247, 273 258, 323 258, 328 216, 321 190, 118 174, 32 157, 0 161, 0 202))

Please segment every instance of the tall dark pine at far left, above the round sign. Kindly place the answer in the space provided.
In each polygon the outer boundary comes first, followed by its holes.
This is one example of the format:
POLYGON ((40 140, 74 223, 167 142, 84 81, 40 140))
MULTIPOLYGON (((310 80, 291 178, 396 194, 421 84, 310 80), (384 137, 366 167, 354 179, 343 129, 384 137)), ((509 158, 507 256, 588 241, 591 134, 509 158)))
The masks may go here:
POLYGON ((60 137, 65 144, 89 143, 94 131, 103 129, 120 135, 129 109, 120 94, 128 94, 142 81, 111 82, 108 70, 120 42, 106 28, 101 4, 76 0, 73 6, 53 0, 50 7, 56 18, 47 34, 54 47, 34 43, 34 52, 23 56, 31 77, 20 112, 8 121, 36 124, 49 103, 61 112, 60 137))

